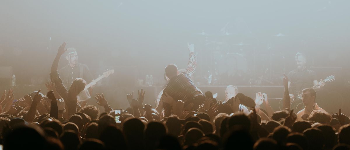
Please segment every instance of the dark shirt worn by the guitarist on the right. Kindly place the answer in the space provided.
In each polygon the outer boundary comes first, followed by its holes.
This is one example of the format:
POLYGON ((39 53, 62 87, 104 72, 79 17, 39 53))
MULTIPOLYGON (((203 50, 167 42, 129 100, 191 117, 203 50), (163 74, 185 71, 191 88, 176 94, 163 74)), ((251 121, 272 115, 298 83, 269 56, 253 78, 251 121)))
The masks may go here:
POLYGON ((313 87, 314 80, 317 80, 315 71, 309 69, 290 71, 288 78, 291 82, 290 94, 296 94, 296 92, 301 92, 304 88, 313 87))

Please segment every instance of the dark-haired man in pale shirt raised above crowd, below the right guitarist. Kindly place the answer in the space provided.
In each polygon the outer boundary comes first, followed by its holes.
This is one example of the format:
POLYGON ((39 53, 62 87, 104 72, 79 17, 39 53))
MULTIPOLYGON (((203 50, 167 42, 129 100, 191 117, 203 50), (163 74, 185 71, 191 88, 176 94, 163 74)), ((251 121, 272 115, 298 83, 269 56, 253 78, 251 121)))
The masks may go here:
POLYGON ((321 107, 318 107, 317 103, 315 103, 316 100, 316 91, 313 88, 305 88, 302 93, 302 100, 305 105, 305 108, 300 110, 296 116, 296 121, 302 121, 307 120, 307 118, 310 115, 310 112, 314 110, 322 110, 324 111, 321 107))

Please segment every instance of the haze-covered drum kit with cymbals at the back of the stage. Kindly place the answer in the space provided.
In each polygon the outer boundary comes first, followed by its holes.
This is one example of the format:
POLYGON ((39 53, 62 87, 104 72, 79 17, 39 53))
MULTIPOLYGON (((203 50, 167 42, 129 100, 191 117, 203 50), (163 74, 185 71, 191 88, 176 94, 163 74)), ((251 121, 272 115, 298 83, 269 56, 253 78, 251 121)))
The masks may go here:
MULTIPOLYGON (((195 33, 203 39, 201 49, 201 69, 197 77, 200 85, 279 85, 276 80, 285 68, 284 55, 273 52, 271 44, 260 44, 259 40, 248 31, 231 33, 227 23, 218 34, 205 31, 195 33), (204 67, 203 67, 204 66, 204 67), (279 70, 279 71, 277 71, 279 70), (279 75, 279 74, 278 74, 279 75)), ((278 33, 275 38, 285 37, 278 33)))

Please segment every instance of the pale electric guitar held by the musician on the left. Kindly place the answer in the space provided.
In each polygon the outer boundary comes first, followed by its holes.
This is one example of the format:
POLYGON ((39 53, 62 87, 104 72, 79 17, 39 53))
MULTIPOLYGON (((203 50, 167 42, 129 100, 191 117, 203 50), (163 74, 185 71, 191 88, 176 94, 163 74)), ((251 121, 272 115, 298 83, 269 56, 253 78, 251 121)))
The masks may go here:
POLYGON ((80 92, 77 96, 78 102, 82 102, 82 101, 86 101, 88 99, 91 98, 90 94, 89 94, 89 90, 87 90, 88 88, 90 88, 91 86, 95 85, 98 81, 100 81, 103 78, 107 78, 110 74, 113 74, 114 70, 108 70, 104 73, 102 73, 101 76, 99 76, 97 79, 91 81, 89 84, 85 85, 85 88, 82 92, 80 92))

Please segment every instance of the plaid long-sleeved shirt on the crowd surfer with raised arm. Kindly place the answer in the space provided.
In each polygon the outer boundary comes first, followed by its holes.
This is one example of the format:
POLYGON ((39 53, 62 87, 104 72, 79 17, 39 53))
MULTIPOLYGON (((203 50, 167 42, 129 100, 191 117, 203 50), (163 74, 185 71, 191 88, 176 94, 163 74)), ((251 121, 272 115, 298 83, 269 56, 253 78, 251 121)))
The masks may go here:
MULTIPOLYGON (((187 101, 187 100, 193 99, 195 94, 201 93, 197 89, 197 87, 194 85, 193 81, 191 80, 191 77, 196 70, 196 65, 197 65, 197 57, 194 54, 194 52, 191 52, 186 70, 178 74, 176 77, 170 79, 168 85, 165 87, 163 91, 163 95, 167 93, 175 101, 177 100, 187 101)), ((165 117, 168 117, 171 115, 172 107, 168 103, 163 103, 163 104, 164 104, 165 117)))

